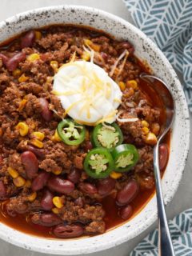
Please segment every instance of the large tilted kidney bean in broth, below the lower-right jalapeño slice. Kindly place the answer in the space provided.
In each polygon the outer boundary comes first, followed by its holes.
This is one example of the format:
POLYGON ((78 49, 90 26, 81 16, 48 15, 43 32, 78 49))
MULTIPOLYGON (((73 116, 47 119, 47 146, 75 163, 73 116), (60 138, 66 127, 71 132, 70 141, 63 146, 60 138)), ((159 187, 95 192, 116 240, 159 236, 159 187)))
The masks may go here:
POLYGON ((138 183, 134 180, 131 180, 122 188, 122 190, 118 191, 117 194, 117 203, 119 206, 124 206, 131 202, 136 195, 138 194, 138 183))

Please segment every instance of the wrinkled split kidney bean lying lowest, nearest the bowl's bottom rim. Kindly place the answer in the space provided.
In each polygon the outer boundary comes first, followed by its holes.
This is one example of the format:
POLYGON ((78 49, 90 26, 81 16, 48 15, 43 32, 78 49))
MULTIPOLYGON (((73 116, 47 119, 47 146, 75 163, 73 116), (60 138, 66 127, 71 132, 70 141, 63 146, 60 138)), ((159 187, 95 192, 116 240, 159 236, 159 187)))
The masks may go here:
POLYGON ((78 224, 58 225, 54 228, 54 235, 58 238, 77 238, 84 233, 82 226, 78 224))

